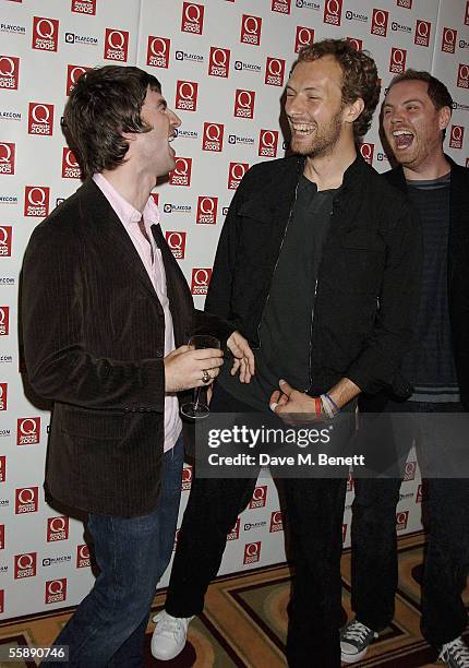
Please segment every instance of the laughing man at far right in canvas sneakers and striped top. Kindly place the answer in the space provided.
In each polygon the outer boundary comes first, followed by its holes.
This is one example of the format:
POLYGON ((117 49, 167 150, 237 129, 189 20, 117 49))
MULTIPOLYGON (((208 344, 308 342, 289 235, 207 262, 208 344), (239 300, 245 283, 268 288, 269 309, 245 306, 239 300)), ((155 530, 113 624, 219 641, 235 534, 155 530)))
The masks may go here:
MULTIPOLYGON (((386 139, 399 163, 384 178, 408 195, 420 215, 423 276, 416 345, 402 366, 413 394, 405 404, 382 397, 381 409, 401 415, 384 415, 375 445, 393 429, 405 450, 417 441, 422 475, 428 477, 422 632, 447 666, 462 668, 469 666, 469 649, 460 637, 467 625, 461 592, 469 569, 464 454, 469 408, 469 171, 443 153, 452 104, 441 81, 408 70, 392 81, 383 107, 386 139)), ((362 407, 375 410, 376 403, 364 401, 362 407)), ((360 660, 393 619, 399 487, 400 479, 356 480, 352 608, 357 617, 341 633, 346 663, 360 660)))

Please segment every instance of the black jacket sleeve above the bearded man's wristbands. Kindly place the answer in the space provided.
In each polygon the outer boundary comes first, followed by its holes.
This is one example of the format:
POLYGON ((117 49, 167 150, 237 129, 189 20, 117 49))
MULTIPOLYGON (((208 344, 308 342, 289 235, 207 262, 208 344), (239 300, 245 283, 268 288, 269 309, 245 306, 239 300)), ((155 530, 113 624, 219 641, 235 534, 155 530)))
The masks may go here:
POLYGON ((386 264, 371 336, 346 373, 362 392, 390 386, 409 394, 400 365, 410 349, 420 300, 422 237, 419 217, 407 204, 388 232, 386 264))

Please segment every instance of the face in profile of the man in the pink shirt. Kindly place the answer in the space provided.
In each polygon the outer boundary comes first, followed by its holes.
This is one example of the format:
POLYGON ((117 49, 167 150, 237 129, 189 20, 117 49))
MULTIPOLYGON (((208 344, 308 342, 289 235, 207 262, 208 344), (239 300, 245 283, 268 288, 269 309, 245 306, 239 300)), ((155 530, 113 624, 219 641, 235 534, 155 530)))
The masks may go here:
POLYGON ((161 93, 149 88, 142 106, 141 118, 152 130, 134 135, 140 159, 155 177, 164 176, 176 165, 176 152, 170 143, 181 121, 168 109, 161 93))

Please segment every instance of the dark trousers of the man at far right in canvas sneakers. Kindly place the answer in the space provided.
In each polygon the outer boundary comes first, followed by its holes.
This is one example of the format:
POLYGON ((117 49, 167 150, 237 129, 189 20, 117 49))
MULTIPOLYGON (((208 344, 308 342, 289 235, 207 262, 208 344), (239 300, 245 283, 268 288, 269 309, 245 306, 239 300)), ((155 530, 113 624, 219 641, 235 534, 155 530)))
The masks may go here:
MULTIPOLYGON (((416 413, 457 409, 456 405, 390 407, 416 413)), ((407 429, 412 444, 411 418, 407 429)), ((399 433, 406 438, 406 433, 399 433)), ((421 443, 424 451, 425 443, 421 443)), ((356 479, 352 505, 352 609, 357 619, 375 631, 394 616, 397 588, 396 505, 400 479, 356 479)), ((422 633, 434 647, 458 637, 467 625, 461 593, 469 572, 469 482, 465 478, 425 481, 428 545, 422 581, 422 633)))

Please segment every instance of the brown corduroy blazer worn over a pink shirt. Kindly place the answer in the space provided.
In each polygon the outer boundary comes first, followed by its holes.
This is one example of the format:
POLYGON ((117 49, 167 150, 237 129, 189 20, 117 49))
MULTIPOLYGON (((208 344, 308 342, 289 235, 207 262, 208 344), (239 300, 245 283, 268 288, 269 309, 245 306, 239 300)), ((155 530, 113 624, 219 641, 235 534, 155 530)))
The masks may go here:
MULTIPOLYGON (((195 311, 159 226, 152 231, 165 263, 178 347, 201 322, 213 321, 195 311)), ((131 239, 92 179, 31 237, 22 326, 29 382, 55 402, 46 465, 51 497, 105 515, 155 510, 164 443, 164 312, 131 239)))

